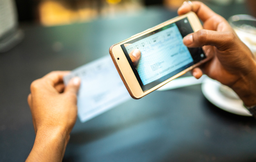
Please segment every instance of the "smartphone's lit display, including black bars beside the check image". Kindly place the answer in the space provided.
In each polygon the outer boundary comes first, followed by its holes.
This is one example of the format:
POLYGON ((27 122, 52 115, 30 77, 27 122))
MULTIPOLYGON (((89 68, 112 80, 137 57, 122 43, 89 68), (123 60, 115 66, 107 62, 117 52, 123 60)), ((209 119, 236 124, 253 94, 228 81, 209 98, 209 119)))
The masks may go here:
POLYGON ((183 37, 192 32, 184 18, 121 45, 143 91, 206 58, 201 47, 187 48, 183 44, 183 37), (129 56, 134 49, 141 51, 137 66, 129 56))

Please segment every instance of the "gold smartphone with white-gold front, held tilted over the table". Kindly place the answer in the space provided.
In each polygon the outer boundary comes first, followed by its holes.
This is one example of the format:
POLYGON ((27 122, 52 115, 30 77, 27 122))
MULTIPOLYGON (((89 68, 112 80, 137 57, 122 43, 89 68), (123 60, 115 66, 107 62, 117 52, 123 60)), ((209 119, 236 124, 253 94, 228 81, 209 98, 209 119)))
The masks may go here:
POLYGON ((170 19, 111 46, 109 53, 133 99, 153 92, 208 59, 199 48, 187 48, 183 38, 202 29, 194 12, 170 19), (129 54, 140 51, 134 63, 129 54))

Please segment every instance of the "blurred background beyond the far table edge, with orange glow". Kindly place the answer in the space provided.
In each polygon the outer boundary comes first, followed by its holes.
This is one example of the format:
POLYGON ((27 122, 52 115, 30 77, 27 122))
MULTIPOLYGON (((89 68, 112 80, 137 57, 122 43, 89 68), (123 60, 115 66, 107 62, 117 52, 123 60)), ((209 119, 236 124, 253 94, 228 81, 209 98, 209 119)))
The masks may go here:
MULTIPOLYGON (((256 17, 256 0, 201 1, 226 19, 234 14, 256 17)), ((184 0, 0 0, 0 53, 21 42, 24 34, 19 27, 24 25, 69 25, 99 18, 136 17, 166 9, 176 13, 183 2, 184 0)))

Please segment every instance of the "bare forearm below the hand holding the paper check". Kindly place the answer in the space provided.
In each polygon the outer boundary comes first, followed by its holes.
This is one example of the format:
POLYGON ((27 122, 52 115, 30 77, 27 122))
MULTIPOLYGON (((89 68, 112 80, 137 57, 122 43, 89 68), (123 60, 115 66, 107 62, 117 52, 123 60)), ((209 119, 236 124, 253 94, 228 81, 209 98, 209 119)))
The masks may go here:
POLYGON ((26 162, 61 162, 69 135, 61 129, 38 130, 32 151, 26 162))

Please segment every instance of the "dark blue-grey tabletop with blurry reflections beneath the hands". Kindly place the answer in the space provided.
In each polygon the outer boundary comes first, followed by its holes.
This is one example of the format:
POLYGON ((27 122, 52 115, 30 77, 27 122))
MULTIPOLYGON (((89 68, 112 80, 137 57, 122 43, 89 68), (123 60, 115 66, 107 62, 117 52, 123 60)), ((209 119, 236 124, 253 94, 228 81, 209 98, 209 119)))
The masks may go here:
MULTIPOLYGON (((241 5, 217 7, 225 18, 241 5)), ((22 25, 25 38, 0 53, 0 162, 25 161, 35 133, 27 104, 31 82, 108 55, 109 47, 176 16, 161 7, 74 25, 22 25)), ((64 162, 256 161, 256 122, 227 113, 201 86, 153 92, 100 116, 77 120, 64 162)))

